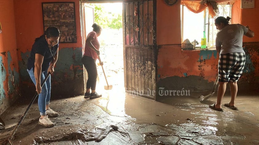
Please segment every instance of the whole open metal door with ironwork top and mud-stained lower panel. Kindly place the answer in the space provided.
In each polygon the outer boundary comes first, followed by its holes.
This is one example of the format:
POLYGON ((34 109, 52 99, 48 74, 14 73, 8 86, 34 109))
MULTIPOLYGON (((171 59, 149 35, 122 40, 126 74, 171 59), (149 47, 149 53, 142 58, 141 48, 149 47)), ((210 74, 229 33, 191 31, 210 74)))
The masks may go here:
POLYGON ((156 0, 123 1, 127 93, 156 97, 156 0))

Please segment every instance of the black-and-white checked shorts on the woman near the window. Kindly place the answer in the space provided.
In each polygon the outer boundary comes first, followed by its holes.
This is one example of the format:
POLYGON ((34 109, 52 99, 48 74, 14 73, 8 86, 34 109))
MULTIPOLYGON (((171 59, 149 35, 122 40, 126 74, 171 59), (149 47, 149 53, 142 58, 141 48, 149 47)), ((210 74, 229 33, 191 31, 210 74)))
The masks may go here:
POLYGON ((245 66, 245 53, 221 54, 218 60, 219 82, 237 82, 245 66))

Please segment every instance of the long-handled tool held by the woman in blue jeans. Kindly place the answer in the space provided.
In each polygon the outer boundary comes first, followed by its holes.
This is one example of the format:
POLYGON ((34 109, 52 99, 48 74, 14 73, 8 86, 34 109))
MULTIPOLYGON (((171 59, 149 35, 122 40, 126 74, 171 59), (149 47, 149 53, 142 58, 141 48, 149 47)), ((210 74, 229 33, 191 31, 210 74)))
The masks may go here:
MULTIPOLYGON (((44 81, 42 82, 41 86, 44 85, 44 83, 45 83, 46 80, 49 78, 49 76, 50 76, 50 73, 48 73, 48 75, 46 76, 46 78, 45 78, 44 81)), ((39 95, 39 94, 36 92, 35 95, 33 96, 32 100, 30 101, 30 104, 29 104, 29 106, 27 107, 26 111, 22 114, 22 116, 21 116, 21 118, 20 118, 18 124, 14 127, 14 130, 13 130, 12 134, 10 134, 10 136, 9 136, 7 139, 5 139, 4 141, 0 142, 1 145, 13 145, 12 139, 14 138, 14 134, 15 134, 15 132, 17 131, 18 127, 21 125, 22 120, 25 118, 25 116, 26 116, 26 114, 28 113, 28 111, 29 111, 31 105, 32 105, 33 102, 35 101, 36 97, 38 97, 38 95, 39 95)))

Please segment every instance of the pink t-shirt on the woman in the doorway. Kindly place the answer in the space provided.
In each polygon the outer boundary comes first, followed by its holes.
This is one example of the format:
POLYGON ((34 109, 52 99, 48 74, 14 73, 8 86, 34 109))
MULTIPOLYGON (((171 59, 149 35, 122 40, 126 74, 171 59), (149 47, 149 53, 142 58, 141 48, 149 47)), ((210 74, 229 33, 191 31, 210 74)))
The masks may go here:
MULTIPOLYGON (((97 50, 99 50, 100 44, 99 44, 99 42, 98 42, 98 38, 97 38, 96 32, 94 32, 94 31, 90 32, 90 33, 87 35, 87 38, 88 38, 88 37, 93 37, 93 38, 94 38, 94 40, 91 41, 91 42, 92 42, 92 44, 94 45, 94 47, 95 47, 97 50)), ((98 58, 97 53, 96 53, 93 49, 91 49, 88 45, 85 45, 85 52, 84 52, 84 55, 85 55, 85 56, 90 56, 90 57, 92 57, 92 59, 94 59, 94 60, 96 60, 96 59, 98 58)))

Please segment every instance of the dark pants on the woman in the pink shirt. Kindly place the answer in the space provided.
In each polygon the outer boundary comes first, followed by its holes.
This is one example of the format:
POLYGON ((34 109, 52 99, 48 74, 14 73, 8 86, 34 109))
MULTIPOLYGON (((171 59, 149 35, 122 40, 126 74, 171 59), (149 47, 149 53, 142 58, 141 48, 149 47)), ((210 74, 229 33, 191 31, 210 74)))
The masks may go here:
POLYGON ((95 90, 97 75, 98 75, 96 61, 94 59, 92 59, 92 57, 89 57, 89 56, 83 56, 81 61, 88 73, 86 89, 95 90))

